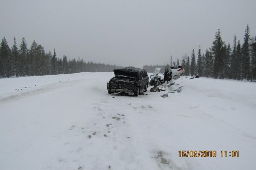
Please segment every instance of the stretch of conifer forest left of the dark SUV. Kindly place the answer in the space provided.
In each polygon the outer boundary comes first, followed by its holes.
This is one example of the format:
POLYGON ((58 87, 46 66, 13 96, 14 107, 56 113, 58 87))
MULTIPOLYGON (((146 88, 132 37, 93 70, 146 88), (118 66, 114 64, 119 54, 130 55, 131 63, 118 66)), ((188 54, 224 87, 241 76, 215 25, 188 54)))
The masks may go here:
POLYGON ((53 74, 72 74, 79 72, 113 71, 122 68, 116 65, 85 62, 84 59, 67 59, 57 57, 55 49, 46 53, 42 45, 35 40, 30 48, 27 48, 25 38, 17 45, 14 38, 12 48, 3 37, 0 45, 0 78, 42 76, 53 74))

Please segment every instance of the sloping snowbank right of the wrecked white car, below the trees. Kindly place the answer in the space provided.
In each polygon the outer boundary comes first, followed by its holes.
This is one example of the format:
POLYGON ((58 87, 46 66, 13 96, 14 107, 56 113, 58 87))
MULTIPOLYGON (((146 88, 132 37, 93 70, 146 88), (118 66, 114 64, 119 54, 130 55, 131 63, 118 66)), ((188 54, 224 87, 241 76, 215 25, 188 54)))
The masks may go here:
POLYGON ((184 77, 180 81, 186 87, 183 93, 189 101, 186 105, 200 108, 205 114, 250 134, 255 133, 251 127, 256 120, 256 83, 211 78, 184 81, 184 77))

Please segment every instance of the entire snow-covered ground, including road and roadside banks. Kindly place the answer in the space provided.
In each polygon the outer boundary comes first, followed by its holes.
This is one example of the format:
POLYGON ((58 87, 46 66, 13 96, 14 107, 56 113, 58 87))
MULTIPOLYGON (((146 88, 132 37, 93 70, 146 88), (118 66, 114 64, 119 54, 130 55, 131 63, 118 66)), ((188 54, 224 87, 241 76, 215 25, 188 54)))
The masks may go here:
POLYGON ((256 169, 256 83, 181 77, 182 91, 167 98, 149 89, 113 98, 111 77, 0 79, 0 170, 256 169))

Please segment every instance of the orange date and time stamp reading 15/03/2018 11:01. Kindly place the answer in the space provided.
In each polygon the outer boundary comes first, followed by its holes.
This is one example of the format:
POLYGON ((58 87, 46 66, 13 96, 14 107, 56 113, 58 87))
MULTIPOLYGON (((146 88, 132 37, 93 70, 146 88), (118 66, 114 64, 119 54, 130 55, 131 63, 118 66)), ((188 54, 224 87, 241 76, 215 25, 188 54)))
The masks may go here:
MULTIPOLYGON (((194 158, 208 158, 208 157, 217 157, 218 153, 216 150, 180 150, 179 151, 179 156, 183 158, 187 157, 194 157, 194 158)), ((227 158, 227 157, 233 157, 233 158, 238 158, 239 157, 239 151, 238 150, 221 150, 219 156, 222 158, 227 158)))

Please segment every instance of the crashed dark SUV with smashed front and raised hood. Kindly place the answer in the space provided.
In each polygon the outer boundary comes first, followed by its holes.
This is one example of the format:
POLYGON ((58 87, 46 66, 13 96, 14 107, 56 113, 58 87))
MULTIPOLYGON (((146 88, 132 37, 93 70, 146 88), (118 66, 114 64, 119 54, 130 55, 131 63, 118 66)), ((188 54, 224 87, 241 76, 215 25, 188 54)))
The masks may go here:
POLYGON ((125 92, 129 95, 138 96, 138 94, 147 91, 148 73, 145 69, 125 67, 113 71, 115 77, 107 83, 108 94, 125 92))

